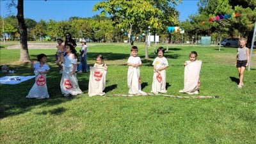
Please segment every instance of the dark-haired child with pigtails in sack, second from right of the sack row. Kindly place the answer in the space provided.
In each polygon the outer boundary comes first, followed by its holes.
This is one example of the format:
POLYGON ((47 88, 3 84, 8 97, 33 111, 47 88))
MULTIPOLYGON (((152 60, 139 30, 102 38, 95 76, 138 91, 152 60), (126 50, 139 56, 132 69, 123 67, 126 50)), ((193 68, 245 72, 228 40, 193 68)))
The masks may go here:
POLYGON ((153 61, 154 75, 152 83, 152 93, 166 93, 166 72, 165 69, 168 67, 168 61, 164 57, 164 48, 159 47, 157 49, 157 58, 153 61))

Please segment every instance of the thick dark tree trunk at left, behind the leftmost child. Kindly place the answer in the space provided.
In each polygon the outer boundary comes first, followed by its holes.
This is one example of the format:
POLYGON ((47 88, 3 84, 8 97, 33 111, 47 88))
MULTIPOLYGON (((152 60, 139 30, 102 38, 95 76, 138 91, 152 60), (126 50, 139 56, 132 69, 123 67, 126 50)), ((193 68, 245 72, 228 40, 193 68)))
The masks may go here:
POLYGON ((27 38, 27 28, 24 21, 24 0, 18 0, 17 4, 17 19, 19 24, 19 34, 20 34, 20 61, 28 62, 30 61, 28 54, 28 38, 27 38))

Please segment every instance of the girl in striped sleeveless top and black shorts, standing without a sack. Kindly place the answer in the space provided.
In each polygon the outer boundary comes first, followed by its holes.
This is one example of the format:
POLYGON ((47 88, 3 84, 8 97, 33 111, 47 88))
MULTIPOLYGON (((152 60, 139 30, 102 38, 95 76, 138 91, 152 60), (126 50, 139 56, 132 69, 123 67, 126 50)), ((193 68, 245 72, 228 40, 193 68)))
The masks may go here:
POLYGON ((242 88, 244 86, 244 70, 248 66, 249 63, 249 49, 246 47, 246 39, 241 38, 240 47, 237 49, 236 56, 236 67, 239 74, 239 84, 238 88, 242 88))

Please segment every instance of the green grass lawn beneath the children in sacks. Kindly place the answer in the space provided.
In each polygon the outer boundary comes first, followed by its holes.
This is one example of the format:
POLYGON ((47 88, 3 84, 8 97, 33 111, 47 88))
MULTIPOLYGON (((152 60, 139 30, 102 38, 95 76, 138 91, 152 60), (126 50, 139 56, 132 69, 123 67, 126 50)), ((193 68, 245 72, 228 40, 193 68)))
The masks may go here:
MULTIPOLYGON (((14 68, 14 74, 33 75, 29 63, 19 63, 19 49, 1 44, 1 65, 14 68)), ((164 46, 164 45, 163 45, 164 46)), ((141 81, 150 92, 154 48, 144 59, 141 81)), ((79 48, 77 48, 78 50, 79 48)), ((102 54, 108 65, 106 94, 128 93, 127 59, 129 45, 89 44, 88 64, 102 54)), ((236 48, 170 46, 165 53, 167 94, 180 94, 184 86, 184 66, 190 51, 203 61, 200 95, 220 99, 175 99, 163 96, 88 97, 89 74, 77 74, 84 92, 63 97, 61 75, 54 63, 56 49, 29 49, 29 55, 47 54, 51 71, 47 74, 50 98, 26 99, 35 79, 16 85, 0 84, 0 143, 256 143, 256 57, 251 70, 244 72, 244 87, 237 88, 236 48)))

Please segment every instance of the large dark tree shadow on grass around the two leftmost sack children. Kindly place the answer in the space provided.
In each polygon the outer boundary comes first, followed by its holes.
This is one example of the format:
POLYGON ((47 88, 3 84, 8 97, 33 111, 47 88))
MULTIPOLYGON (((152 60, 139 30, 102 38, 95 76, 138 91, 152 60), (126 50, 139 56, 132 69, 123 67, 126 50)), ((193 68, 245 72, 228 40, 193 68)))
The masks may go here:
MULTIPOLYGON (((28 65, 17 65, 15 66, 17 71, 13 74, 1 74, 2 76, 31 76, 33 72, 31 72, 28 65)), ((35 108, 35 106, 54 106, 57 104, 61 104, 63 102, 68 102, 73 99, 79 99, 79 97, 63 97, 60 90, 60 81, 61 74, 59 74, 60 68, 51 67, 49 74, 47 74, 47 88, 49 92, 49 99, 26 99, 26 95, 28 95, 29 90, 32 88, 35 83, 34 79, 29 79, 28 81, 24 81, 20 84, 0 84, 0 119, 5 118, 7 116, 15 116, 20 115, 22 113, 26 113, 31 111, 31 109, 35 108)), ((86 76, 83 76, 86 77, 86 76)), ((86 88, 88 83, 84 83, 84 81, 88 81, 87 77, 84 79, 83 77, 79 77, 79 80, 82 79, 83 83, 79 83, 79 86, 83 86, 86 88), (84 84, 84 85, 83 85, 84 84)), ((78 78, 77 78, 78 79, 78 78)), ((88 86, 87 86, 88 87, 88 86)), ((66 109, 57 108, 52 109, 51 111, 43 111, 44 113, 51 113, 52 115, 61 115, 66 109)))

